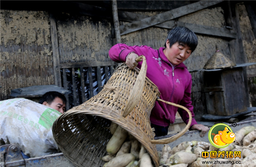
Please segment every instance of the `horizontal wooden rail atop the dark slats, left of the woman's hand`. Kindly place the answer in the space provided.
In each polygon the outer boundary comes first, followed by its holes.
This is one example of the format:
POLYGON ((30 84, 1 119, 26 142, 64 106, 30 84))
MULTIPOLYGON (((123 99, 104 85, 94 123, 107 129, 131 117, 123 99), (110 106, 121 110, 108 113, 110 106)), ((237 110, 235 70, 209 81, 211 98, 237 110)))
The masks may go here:
POLYGON ((61 63, 60 68, 80 68, 80 67, 93 67, 93 66, 110 66, 117 65, 114 61, 92 61, 92 62, 67 62, 61 63))

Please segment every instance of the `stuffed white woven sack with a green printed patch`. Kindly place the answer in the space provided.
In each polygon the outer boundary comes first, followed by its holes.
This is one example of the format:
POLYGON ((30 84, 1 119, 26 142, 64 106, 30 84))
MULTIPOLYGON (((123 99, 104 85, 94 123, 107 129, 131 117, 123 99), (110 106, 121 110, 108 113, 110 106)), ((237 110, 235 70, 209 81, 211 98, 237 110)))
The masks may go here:
POLYGON ((0 140, 19 145, 30 157, 57 153, 52 124, 60 115, 57 110, 24 98, 0 101, 0 140))

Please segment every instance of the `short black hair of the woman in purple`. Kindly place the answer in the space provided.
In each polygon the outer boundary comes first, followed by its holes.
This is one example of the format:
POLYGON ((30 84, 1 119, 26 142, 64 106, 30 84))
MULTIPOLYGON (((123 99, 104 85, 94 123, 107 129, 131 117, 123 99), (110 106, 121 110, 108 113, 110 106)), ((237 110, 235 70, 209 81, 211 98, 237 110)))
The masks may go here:
MULTIPOLYGON (((175 27, 168 33, 166 41, 167 39, 170 41, 170 48, 178 42, 186 44, 192 52, 195 51, 198 44, 196 34, 186 27, 175 27)), ((164 43, 164 47, 166 47, 166 42, 164 43)))

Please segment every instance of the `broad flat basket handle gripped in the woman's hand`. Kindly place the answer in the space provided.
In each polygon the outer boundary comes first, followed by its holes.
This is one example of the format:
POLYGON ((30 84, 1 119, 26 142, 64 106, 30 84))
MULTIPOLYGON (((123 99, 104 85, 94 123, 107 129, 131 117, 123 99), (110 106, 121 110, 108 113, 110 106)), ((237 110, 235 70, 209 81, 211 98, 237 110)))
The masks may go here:
POLYGON ((135 59, 136 62, 143 60, 141 65, 141 70, 139 71, 138 77, 134 83, 133 90, 128 98, 127 105, 123 108, 123 117, 126 117, 133 111, 134 107, 137 105, 139 99, 141 98, 141 94, 143 93, 144 89, 144 82, 146 80, 146 73, 147 73, 147 62, 146 57, 141 55, 135 59))

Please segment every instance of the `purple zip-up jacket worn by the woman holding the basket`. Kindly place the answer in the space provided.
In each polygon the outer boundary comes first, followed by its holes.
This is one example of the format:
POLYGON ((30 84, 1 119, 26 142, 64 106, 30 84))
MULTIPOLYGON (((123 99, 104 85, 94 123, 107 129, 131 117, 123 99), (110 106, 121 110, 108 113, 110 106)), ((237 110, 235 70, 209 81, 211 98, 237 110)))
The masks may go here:
MULTIPOLYGON (((147 77, 158 86, 160 99, 187 107, 192 114, 192 123, 197 124, 194 118, 193 106, 191 102, 192 77, 187 66, 181 62, 174 68, 163 53, 164 48, 158 50, 142 46, 128 46, 126 44, 116 44, 109 50, 110 58, 115 62, 125 62, 126 56, 130 52, 137 55, 144 55, 147 60, 147 77)), ((138 68, 141 68, 139 62, 138 68)), ((164 102, 156 101, 150 115, 150 122, 158 126, 169 126, 174 123, 178 107, 168 105, 164 102)), ((189 116, 187 111, 179 108, 179 114, 187 124, 189 116)))

